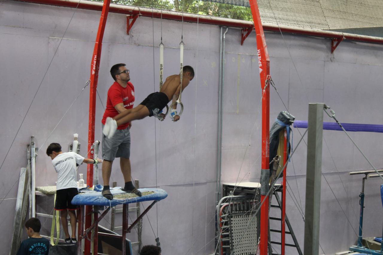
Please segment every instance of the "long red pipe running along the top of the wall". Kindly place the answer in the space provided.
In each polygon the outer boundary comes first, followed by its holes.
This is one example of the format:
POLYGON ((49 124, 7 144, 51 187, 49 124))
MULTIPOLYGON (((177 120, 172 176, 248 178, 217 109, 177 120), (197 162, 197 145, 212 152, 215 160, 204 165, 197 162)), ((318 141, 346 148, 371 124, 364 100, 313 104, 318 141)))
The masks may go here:
MULTIPOLYGON (((77 4, 79 3, 79 1, 76 1, 76 0, 20 0, 20 1, 30 2, 30 3, 41 3, 41 4, 47 4, 47 5, 57 5, 57 6, 64 6, 64 7, 71 7, 71 8, 76 8, 77 4)), ((86 9, 86 10, 101 11, 102 3, 81 0, 78 8, 86 9)), ((121 13, 126 15, 141 14, 142 16, 146 16, 146 17, 152 17, 153 15, 155 18, 160 18, 161 16, 160 10, 152 10, 149 8, 138 8, 138 7, 127 6, 127 5, 117 5, 113 3, 110 4, 109 11, 113 13, 121 13)), ((163 10, 162 18, 182 20, 182 13, 163 10)), ((207 16, 207 15, 195 15, 190 13, 183 13, 183 20, 188 22, 197 22, 198 20, 199 23, 213 24, 213 25, 219 25, 219 26, 229 26, 229 27, 236 27, 236 28, 254 28, 254 24, 251 21, 218 18, 213 16, 207 16)), ((363 36, 363 35, 349 34, 349 33, 342 33, 342 32, 325 31, 320 29, 299 28, 299 27, 285 26, 285 25, 278 26, 277 24, 270 24, 270 23, 264 23, 262 24, 262 26, 264 31, 273 31, 273 32, 282 31, 285 33, 301 34, 301 35, 307 35, 307 36, 318 36, 318 37, 339 38, 339 39, 344 38, 350 41, 361 41, 361 42, 372 42, 372 43, 383 44, 383 38, 381 37, 363 36)))

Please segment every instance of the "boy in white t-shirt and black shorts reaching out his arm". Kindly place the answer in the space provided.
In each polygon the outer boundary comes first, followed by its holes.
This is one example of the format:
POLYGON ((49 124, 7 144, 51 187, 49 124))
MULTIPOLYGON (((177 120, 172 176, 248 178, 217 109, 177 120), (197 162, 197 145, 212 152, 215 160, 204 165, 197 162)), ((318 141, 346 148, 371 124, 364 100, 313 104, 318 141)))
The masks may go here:
POLYGON ((65 233, 65 242, 77 243, 76 239, 76 213, 79 209, 77 205, 70 203, 77 195, 77 169, 76 164, 83 162, 87 164, 101 163, 101 159, 86 159, 73 151, 62 152, 61 145, 51 143, 47 148, 47 155, 51 157, 54 169, 57 172, 56 203, 54 210, 60 211, 61 224, 65 233), (72 236, 69 236, 67 214, 70 216, 70 226, 72 227, 72 236))

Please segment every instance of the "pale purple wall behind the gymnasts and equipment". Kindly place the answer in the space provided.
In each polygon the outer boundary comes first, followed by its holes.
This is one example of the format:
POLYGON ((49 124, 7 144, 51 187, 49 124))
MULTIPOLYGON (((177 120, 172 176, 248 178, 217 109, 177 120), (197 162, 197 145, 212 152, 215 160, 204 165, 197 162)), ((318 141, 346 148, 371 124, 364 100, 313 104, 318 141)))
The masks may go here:
MULTIPOLYGON (((49 143, 58 142, 67 149, 73 134, 79 133, 80 154, 87 154, 89 86, 82 89, 89 78, 100 12, 14 1, 2 2, 0 6, 0 227, 6 230, 13 229, 18 177, 20 168, 27 165, 26 145, 32 135, 40 149, 36 186, 55 185, 57 180, 45 154, 49 143)), ((106 93, 113 83, 109 73, 112 65, 127 64, 135 86, 135 105, 158 91, 160 22, 140 17, 128 36, 126 15, 108 15, 95 139, 101 140, 106 93)), ((181 27, 179 21, 162 21, 165 76, 179 69, 181 27)), ((148 218, 143 220, 143 244, 154 244, 158 232, 162 254, 214 253, 220 32, 219 26, 183 24, 184 64, 193 66, 196 76, 182 94, 185 108, 181 120, 173 123, 169 119, 159 122, 145 118, 134 121, 131 129, 133 179, 140 181, 140 187, 158 186, 169 193, 157 203, 157 208, 149 211, 150 224, 148 218)), ((309 102, 331 106, 340 122, 383 123, 383 45, 344 41, 331 54, 329 39, 291 34, 282 37, 272 32, 266 32, 265 37, 270 74, 283 100, 270 88, 270 124, 281 110, 286 110, 283 103, 297 120, 307 120, 309 102)), ((240 29, 230 28, 226 34, 223 183, 259 182, 260 178, 262 91, 255 34, 250 34, 242 46, 240 38, 240 29)), ((324 121, 332 120, 326 115, 324 121)), ((304 131, 293 128, 293 145, 304 131)), ((363 176, 349 176, 348 172, 371 167, 343 132, 325 130, 323 134, 319 243, 321 254, 334 254, 348 250, 357 240, 358 195, 363 176)), ((370 161, 382 168, 381 135, 350 135, 370 161)), ((286 213, 301 247, 306 188, 304 140, 288 164, 286 201, 286 213)), ((118 161, 113 165, 111 181, 121 186, 118 161)), ((79 173, 85 176, 85 165, 79 173)), ((367 180, 364 237, 381 235, 381 222, 376 221, 382 211, 380 183, 377 178, 367 180)), ((38 201, 38 211, 49 214, 51 210, 51 200, 38 201)), ((48 234, 51 220, 41 220, 44 234, 48 234)), ((107 217, 101 225, 109 227, 108 221, 107 217)), ((121 226, 120 215, 116 226, 121 226)), ((136 233, 130 233, 128 238, 136 241, 136 233)), ((9 253, 10 242, 11 235, 3 234, 0 255, 9 253)), ((286 254, 296 251, 287 248, 286 254)))

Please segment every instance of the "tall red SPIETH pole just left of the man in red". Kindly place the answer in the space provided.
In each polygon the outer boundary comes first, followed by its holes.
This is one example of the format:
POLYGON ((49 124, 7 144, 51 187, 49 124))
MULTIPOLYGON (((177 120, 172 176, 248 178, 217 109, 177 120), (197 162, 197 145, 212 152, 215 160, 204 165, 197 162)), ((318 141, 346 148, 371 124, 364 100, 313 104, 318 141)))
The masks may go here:
MULTIPOLYGON (((98 25, 98 32, 95 42, 95 47, 92 55, 92 63, 90 67, 90 95, 89 95, 89 125, 88 125, 88 158, 93 158, 93 149, 91 149, 95 140, 95 115, 96 115, 96 89, 98 81, 98 70, 100 68, 100 57, 102 38, 104 36, 106 18, 108 17, 110 0, 104 0, 104 4, 101 11, 100 24, 98 25)), ((93 165, 88 164, 87 168, 87 186, 93 186, 93 165)), ((92 224, 92 206, 86 206, 85 212, 85 228, 88 228, 92 224)), ((91 234, 88 234, 90 239, 91 234)), ((97 251, 96 251, 97 252, 97 251)), ((90 241, 85 239, 84 254, 90 255, 90 241)))

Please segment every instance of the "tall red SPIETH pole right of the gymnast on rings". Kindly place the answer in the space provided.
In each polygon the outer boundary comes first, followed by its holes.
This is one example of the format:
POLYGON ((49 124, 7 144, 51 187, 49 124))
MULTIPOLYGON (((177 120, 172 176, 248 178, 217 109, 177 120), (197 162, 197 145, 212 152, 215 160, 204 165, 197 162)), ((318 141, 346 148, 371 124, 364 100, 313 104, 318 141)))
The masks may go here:
POLYGON ((257 0, 249 0, 251 13, 253 15, 254 28, 257 38, 257 52, 259 76, 262 88, 262 163, 261 163, 261 207, 260 220, 260 254, 267 255, 268 240, 268 182, 269 182, 269 125, 270 125, 270 86, 268 76, 270 75, 270 59, 267 53, 265 34, 262 27, 257 0))

